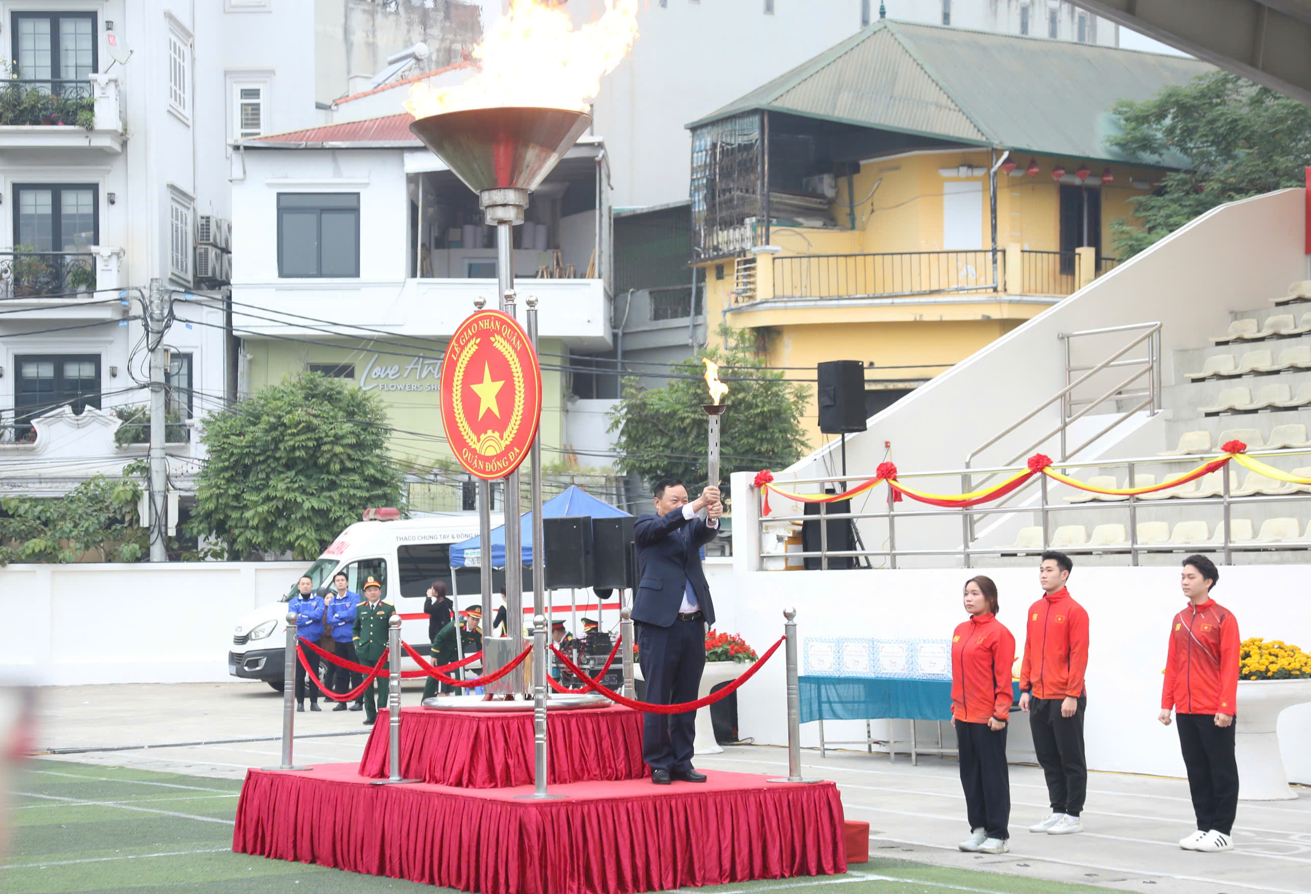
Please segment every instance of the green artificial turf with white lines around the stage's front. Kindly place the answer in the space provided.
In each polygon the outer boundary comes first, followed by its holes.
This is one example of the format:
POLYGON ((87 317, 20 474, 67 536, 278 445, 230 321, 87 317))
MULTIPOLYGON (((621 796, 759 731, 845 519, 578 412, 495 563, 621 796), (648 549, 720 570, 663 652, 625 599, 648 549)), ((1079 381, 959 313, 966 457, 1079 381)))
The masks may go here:
MULTIPOLYGON (((0 891, 413 891, 425 885, 232 853, 241 784, 63 760, 30 760, 10 787, 0 891)), ((792 891, 1105 891, 986 872, 874 859, 846 876, 743 882, 707 894, 792 891)))

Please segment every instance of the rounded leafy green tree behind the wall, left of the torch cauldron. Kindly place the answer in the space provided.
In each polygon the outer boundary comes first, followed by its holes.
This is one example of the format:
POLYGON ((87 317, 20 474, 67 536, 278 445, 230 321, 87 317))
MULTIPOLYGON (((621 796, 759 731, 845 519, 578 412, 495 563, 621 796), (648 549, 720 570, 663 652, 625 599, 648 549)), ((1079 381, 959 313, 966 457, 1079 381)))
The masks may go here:
POLYGON ((302 374, 205 421, 208 461, 187 530, 249 552, 317 556, 368 507, 396 507, 401 473, 387 453, 375 394, 302 374))

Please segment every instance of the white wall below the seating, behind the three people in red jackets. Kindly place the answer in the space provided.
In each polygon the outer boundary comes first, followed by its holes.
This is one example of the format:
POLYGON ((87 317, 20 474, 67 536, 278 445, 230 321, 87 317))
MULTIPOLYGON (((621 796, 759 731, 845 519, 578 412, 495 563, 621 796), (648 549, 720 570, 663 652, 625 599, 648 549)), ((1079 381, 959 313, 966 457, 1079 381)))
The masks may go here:
MULTIPOLYGON (((1183 558, 1183 556, 1180 556, 1183 558)), ((1156 720, 1169 620, 1184 605, 1177 568, 1080 568, 1070 577, 1070 593, 1087 610, 1091 624, 1086 742, 1092 770, 1183 776, 1179 734, 1156 720)), ((1308 565, 1221 567, 1215 599, 1239 619, 1243 637, 1280 639, 1311 649, 1311 601, 1304 598, 1308 565)), ((812 636, 878 639, 949 639, 965 619, 961 592, 974 575, 996 581, 999 619, 1024 648, 1025 610, 1041 596, 1037 562, 1033 568, 734 572, 728 562, 707 563, 717 613, 716 628, 741 632, 763 652, 783 634, 783 610, 797 609, 801 674, 805 645, 812 636)), ((771 661, 738 692, 738 728, 758 743, 787 745, 787 712, 781 661, 771 661)), ((1012 719, 1012 759, 1029 759, 1027 717, 1012 719), (1013 747, 1019 745, 1020 747, 1013 747)), ((1238 723, 1243 715, 1239 706, 1238 723)), ((906 738, 905 723, 898 740, 906 738)), ((876 725, 876 737, 886 725, 876 725)), ((932 724, 920 728, 920 743, 932 724)), ((818 747, 817 724, 805 724, 802 745, 818 747)), ((944 724, 944 745, 954 736, 944 724)), ((1311 704, 1289 708, 1280 717, 1280 745, 1289 781, 1311 784, 1311 704)), ((865 724, 830 721, 829 740, 864 740, 865 724)), ((848 746, 856 747, 856 746, 848 746)), ((905 747, 905 746, 903 746, 905 747)), ((888 760, 886 757, 877 758, 888 760)), ((805 759, 808 763, 810 759, 805 759)))

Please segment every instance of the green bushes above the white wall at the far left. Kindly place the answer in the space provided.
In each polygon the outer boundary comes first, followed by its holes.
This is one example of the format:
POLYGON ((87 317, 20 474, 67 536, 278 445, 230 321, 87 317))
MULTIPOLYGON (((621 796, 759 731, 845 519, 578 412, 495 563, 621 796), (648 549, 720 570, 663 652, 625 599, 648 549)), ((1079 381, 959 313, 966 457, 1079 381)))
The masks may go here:
POLYGON ((90 478, 62 497, 0 497, 0 567, 10 562, 136 562, 146 529, 142 490, 128 478, 90 478))

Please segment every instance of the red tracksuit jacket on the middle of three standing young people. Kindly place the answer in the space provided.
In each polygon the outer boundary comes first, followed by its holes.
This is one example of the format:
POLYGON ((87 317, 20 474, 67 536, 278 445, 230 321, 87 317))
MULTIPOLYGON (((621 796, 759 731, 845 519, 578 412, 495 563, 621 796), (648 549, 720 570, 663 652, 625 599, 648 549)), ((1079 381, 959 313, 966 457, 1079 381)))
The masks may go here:
POLYGON ((1020 691, 1036 699, 1076 699, 1088 669, 1088 613, 1061 588, 1029 606, 1020 691))

